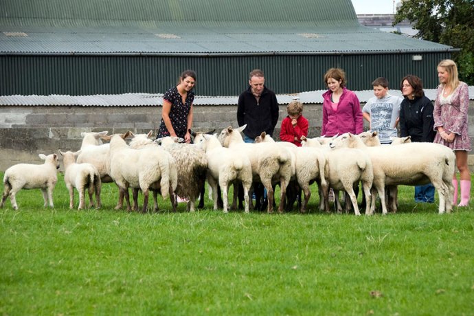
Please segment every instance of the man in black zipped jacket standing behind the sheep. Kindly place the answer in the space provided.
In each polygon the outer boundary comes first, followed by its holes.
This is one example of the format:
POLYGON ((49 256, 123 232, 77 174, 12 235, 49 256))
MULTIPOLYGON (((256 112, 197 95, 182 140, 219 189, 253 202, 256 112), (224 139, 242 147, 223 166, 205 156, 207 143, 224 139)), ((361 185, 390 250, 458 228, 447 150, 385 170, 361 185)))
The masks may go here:
POLYGON ((249 74, 249 89, 238 97, 238 126, 247 124, 244 141, 253 143, 255 137, 265 132, 272 136, 278 122, 278 102, 273 91, 264 85, 263 71, 253 69, 249 74))

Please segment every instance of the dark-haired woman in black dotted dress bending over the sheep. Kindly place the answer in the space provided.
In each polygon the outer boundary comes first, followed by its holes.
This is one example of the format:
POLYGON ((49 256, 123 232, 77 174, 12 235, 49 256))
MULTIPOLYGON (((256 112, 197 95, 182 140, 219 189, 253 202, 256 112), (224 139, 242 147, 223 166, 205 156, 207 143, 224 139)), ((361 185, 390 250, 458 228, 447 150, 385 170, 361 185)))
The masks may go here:
POLYGON ((183 138, 187 143, 191 142, 189 130, 192 126, 194 84, 196 84, 196 73, 192 70, 183 71, 179 77, 179 84, 163 95, 161 124, 157 138, 174 136, 183 138))

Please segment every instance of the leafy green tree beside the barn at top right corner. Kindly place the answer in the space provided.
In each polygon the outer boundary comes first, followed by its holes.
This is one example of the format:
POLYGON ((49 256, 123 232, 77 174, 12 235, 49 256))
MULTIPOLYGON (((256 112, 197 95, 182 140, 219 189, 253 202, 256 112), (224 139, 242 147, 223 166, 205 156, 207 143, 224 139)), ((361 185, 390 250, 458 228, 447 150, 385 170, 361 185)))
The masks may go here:
POLYGON ((474 0, 405 0, 394 24, 414 23, 416 38, 460 48, 453 53, 460 80, 474 84, 474 0))

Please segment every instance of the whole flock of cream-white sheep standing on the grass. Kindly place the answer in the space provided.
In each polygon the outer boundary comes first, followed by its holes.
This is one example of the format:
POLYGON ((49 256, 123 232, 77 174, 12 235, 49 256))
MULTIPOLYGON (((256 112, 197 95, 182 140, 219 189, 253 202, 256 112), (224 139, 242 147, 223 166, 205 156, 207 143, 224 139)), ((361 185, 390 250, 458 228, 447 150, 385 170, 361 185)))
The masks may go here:
MULTIPOLYGON (((84 208, 84 195, 89 194, 89 205, 100 207, 100 188, 104 182, 115 182, 119 187, 116 209, 138 210, 138 192, 143 192, 142 212, 148 210, 152 192, 154 210, 158 210, 157 194, 170 199, 176 210, 177 196, 188 200, 187 210, 203 207, 205 181, 213 194, 214 210, 218 209, 218 189, 222 192, 223 212, 228 212, 229 185, 234 185, 236 208, 239 185, 243 190, 245 212, 253 210, 249 198, 253 183, 260 182, 267 190, 267 212, 273 212, 274 188, 280 185, 278 212, 284 212, 287 188, 298 188, 300 212, 306 212, 311 197, 310 185, 319 188, 319 209, 329 212, 328 192, 343 191, 348 195, 346 210, 352 204, 360 215, 354 186, 361 183, 365 198, 365 214, 374 214, 375 196, 379 195, 382 213, 396 212, 396 185, 422 185, 433 183, 439 195, 439 213, 451 212, 455 168, 455 155, 449 148, 433 143, 409 143, 409 139, 396 139, 392 145, 381 146, 376 133, 359 135, 346 133, 338 137, 302 139, 302 147, 288 142, 275 142, 262 133, 256 143, 247 144, 241 132, 245 128, 228 127, 220 134, 192 133, 194 144, 181 144, 176 137, 150 139, 148 134, 132 132, 107 135, 82 133, 80 150, 59 151, 65 166, 65 184, 69 190, 69 207, 74 207, 74 188, 79 192, 78 209, 84 208), (131 139, 130 142, 126 142, 131 139), (102 140, 109 143, 103 144, 102 140), (407 142, 408 141, 408 142, 407 142), (133 205, 128 189, 133 192, 133 205), (387 192, 387 194, 386 194, 387 192), (93 195, 95 194, 95 203, 93 195), (387 201, 388 200, 388 207, 387 201)), ((19 190, 39 188, 46 207, 53 204, 53 190, 57 182, 59 156, 39 155, 43 165, 19 163, 5 171, 4 192, 0 207, 10 196, 14 210, 18 209, 15 194, 19 190)), ((339 196, 339 194, 335 194, 339 196)), ((337 210, 342 210, 335 199, 337 210)), ((286 205, 287 207, 287 205, 286 205)))

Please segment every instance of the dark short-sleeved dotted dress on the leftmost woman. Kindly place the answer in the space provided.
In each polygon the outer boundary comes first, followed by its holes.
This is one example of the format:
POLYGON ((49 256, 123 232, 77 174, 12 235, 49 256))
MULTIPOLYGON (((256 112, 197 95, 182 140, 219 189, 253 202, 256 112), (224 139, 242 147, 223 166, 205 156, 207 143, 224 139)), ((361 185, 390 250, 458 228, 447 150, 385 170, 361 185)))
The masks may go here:
MULTIPOLYGON (((163 100, 171 103, 170 120, 174 128, 174 133, 176 133, 178 137, 184 138, 186 130, 188 129, 188 114, 190 113, 192 102, 194 101, 194 92, 188 92, 183 104, 183 98, 181 98, 177 87, 173 87, 166 91, 163 95, 163 100)), ((170 132, 168 128, 166 128, 163 118, 161 118, 157 138, 166 136, 170 136, 170 132)))

